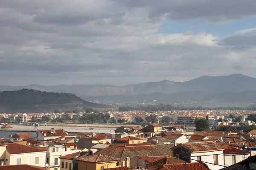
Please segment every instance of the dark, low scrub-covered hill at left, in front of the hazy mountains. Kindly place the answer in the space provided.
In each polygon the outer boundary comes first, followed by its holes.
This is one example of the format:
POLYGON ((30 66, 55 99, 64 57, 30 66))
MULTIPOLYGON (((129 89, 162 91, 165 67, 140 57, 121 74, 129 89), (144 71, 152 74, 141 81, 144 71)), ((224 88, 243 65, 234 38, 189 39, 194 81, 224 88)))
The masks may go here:
POLYGON ((28 89, 0 92, 0 112, 53 112, 56 109, 84 111, 86 108, 111 108, 111 106, 87 102, 69 93, 28 89))

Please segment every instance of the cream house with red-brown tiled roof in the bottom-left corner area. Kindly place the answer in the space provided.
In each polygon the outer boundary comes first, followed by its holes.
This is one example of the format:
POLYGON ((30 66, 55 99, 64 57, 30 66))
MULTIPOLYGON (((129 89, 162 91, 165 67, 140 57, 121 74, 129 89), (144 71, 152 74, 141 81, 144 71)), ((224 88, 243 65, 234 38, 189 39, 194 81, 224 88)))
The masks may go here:
POLYGON ((30 147, 17 143, 10 143, 6 146, 5 161, 6 165, 29 164, 45 167, 46 151, 44 148, 30 147))

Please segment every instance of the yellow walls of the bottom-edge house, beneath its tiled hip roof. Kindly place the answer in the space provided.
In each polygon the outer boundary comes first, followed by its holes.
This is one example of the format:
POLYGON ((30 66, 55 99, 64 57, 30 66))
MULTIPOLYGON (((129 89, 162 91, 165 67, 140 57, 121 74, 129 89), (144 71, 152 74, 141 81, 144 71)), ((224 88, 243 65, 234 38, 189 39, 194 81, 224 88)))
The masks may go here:
POLYGON ((117 161, 99 164, 95 164, 93 162, 78 161, 78 170, 101 170, 101 166, 104 166, 104 168, 122 167, 122 165, 117 166, 117 161))

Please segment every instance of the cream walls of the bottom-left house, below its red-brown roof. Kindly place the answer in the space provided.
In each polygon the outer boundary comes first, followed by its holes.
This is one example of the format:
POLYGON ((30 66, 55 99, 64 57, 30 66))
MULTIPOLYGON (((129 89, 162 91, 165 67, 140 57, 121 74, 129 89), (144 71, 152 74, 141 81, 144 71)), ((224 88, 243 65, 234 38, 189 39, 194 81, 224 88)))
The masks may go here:
POLYGON ((46 162, 45 152, 23 153, 23 154, 12 154, 12 155, 10 155, 7 151, 6 153, 7 153, 6 159, 8 159, 8 165, 15 165, 17 164, 17 159, 20 159, 20 164, 29 164, 29 165, 39 166, 39 167, 45 167, 45 162, 46 162), (35 157, 38 157, 38 164, 35 164, 35 157))

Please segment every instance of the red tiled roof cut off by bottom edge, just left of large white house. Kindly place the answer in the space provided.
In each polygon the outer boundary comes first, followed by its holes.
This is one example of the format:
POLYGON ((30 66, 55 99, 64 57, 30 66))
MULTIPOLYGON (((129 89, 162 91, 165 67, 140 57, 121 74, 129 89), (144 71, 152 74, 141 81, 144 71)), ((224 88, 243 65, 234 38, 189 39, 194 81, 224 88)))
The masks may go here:
MULTIPOLYGON (((166 170, 185 170, 185 164, 164 164, 166 170)), ((161 167, 160 167, 161 168, 161 167)), ((186 163, 186 170, 210 170, 203 162, 186 163)))

